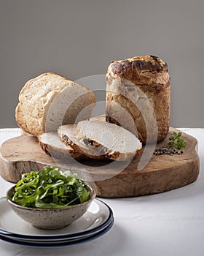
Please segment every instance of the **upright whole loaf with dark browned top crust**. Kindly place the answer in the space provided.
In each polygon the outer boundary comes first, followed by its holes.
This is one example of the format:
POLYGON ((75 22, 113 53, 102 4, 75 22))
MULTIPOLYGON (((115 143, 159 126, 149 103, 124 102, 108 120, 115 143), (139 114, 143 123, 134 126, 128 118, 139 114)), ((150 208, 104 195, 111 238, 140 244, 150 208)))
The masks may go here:
POLYGON ((112 61, 106 73, 106 121, 143 143, 164 140, 170 121, 168 65, 156 56, 112 61))

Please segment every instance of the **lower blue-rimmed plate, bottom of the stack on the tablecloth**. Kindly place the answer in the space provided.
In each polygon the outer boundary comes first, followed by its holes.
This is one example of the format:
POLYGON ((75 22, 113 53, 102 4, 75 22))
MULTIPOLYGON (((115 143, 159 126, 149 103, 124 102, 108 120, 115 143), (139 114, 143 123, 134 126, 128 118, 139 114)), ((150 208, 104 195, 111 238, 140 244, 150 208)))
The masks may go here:
POLYGON ((46 241, 42 241, 42 242, 38 242, 38 241, 26 241, 26 240, 20 240, 20 239, 16 239, 15 237, 7 237, 7 236, 3 236, 0 234, 0 239, 2 241, 6 241, 12 244, 18 244, 21 246, 29 246, 29 247, 62 247, 62 246, 71 246, 74 244, 82 244, 82 243, 86 243, 88 241, 93 241, 96 238, 99 238, 101 236, 103 236, 105 233, 107 233, 111 227, 114 225, 114 218, 112 219, 112 221, 109 223, 109 225, 107 227, 105 227, 103 230, 98 231, 98 233, 95 233, 93 235, 87 236, 87 237, 81 237, 81 238, 77 238, 74 239, 73 241, 69 241, 69 240, 64 240, 64 241, 55 241, 55 242, 50 242, 47 243, 46 241))

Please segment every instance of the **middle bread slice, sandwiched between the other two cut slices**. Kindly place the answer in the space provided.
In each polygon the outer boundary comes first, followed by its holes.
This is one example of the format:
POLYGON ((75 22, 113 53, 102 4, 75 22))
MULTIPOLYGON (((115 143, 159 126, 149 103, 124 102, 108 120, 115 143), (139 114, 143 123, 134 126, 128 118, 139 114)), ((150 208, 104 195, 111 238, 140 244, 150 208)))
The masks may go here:
POLYGON ((66 124, 58 128, 58 136, 60 140, 66 145, 74 148, 74 151, 78 152, 82 156, 89 157, 91 159, 106 159, 100 151, 95 148, 90 148, 85 143, 76 139, 75 130, 76 125, 66 124))

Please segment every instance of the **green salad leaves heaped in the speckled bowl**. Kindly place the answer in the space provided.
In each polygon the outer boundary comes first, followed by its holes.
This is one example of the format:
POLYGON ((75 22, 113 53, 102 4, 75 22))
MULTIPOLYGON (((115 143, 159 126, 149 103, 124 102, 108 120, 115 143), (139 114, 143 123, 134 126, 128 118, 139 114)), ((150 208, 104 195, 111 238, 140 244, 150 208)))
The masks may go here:
POLYGON ((84 203, 89 196, 85 183, 76 175, 47 166, 23 174, 15 186, 12 201, 31 208, 63 208, 84 203))

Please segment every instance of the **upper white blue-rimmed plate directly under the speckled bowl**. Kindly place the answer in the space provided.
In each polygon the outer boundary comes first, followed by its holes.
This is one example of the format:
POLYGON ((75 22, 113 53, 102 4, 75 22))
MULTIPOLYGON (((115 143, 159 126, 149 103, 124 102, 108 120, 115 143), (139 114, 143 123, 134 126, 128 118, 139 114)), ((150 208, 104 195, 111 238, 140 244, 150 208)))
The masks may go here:
POLYGON ((7 238, 22 238, 28 241, 68 241, 94 235, 112 221, 111 208, 95 198, 86 213, 68 227, 58 230, 41 230, 18 217, 7 200, 0 201, 0 235, 7 238))

